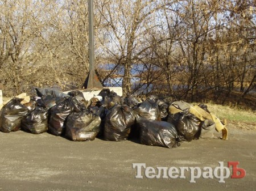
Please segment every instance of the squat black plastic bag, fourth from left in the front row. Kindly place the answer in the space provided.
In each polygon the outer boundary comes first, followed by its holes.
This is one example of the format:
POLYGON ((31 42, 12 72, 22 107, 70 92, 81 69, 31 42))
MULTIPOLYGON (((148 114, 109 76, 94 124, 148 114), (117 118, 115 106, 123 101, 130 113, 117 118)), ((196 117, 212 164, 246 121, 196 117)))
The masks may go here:
POLYGON ((101 118, 88 111, 69 114, 65 135, 73 141, 93 141, 100 131, 101 118))

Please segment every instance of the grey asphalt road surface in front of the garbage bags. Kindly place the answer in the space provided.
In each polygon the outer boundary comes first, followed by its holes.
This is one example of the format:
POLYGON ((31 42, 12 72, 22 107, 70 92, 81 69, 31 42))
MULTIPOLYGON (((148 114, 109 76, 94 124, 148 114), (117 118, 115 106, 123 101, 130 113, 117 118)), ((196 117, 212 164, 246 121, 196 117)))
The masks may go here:
MULTIPOLYGON (((200 139, 177 148, 133 141, 72 142, 43 133, 0 133, 2 190, 255 190, 256 131, 229 129, 229 140, 200 139), (135 179, 133 163, 146 167, 217 167, 238 161, 243 179, 135 179)), ((230 168, 231 171, 232 168, 230 168)), ((144 169, 142 171, 144 175, 144 169)))

